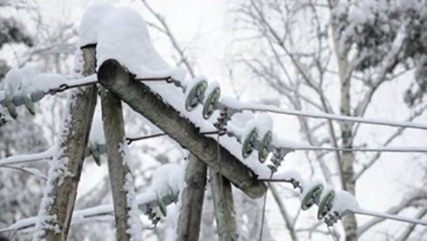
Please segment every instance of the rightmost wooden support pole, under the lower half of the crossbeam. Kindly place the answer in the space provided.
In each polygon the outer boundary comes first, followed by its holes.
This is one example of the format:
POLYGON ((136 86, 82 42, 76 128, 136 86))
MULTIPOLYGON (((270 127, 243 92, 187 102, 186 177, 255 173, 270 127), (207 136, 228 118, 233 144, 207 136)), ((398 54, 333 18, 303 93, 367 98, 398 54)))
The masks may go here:
POLYGON ((219 240, 235 241, 237 240, 235 203, 233 202, 230 181, 221 176, 219 172, 214 172, 211 169, 209 169, 209 177, 211 177, 219 240))

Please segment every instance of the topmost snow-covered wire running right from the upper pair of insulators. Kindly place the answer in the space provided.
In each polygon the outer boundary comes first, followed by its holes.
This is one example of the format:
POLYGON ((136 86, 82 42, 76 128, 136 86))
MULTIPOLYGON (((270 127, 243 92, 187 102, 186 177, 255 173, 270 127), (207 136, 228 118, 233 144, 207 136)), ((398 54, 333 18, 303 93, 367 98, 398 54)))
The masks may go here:
POLYGON ((239 102, 236 99, 226 99, 223 98, 221 100, 221 104, 229 107, 230 109, 236 109, 238 111, 266 111, 272 113, 281 113, 290 116, 303 116, 310 118, 323 118, 329 119, 333 121, 344 121, 351 123, 365 123, 371 125, 386 125, 400 128, 414 128, 414 129, 422 129, 427 130, 427 125, 422 123, 410 123, 405 121, 388 121, 388 120, 380 120, 380 119, 372 119, 372 118, 362 118, 356 116, 341 116, 330 113, 312 113, 306 111, 296 111, 291 109, 283 109, 275 106, 268 106, 265 104, 252 104, 252 103, 244 103, 239 102))

